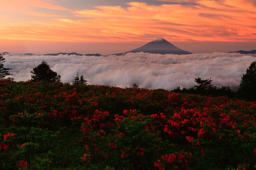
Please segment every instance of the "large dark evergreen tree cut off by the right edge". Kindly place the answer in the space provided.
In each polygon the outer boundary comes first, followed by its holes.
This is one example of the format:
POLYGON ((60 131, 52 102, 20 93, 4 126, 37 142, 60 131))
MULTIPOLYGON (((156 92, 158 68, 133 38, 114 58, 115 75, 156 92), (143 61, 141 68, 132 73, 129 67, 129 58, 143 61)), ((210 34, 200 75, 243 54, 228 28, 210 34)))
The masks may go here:
POLYGON ((240 99, 256 100, 256 60, 243 74, 236 96, 240 99))

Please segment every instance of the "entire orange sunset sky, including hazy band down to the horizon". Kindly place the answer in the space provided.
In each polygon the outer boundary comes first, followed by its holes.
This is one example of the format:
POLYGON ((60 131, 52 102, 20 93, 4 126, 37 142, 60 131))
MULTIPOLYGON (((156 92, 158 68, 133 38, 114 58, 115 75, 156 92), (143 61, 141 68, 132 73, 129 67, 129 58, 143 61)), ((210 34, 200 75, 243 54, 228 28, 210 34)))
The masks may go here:
POLYGON ((156 38, 191 53, 256 49, 256 0, 0 0, 0 53, 114 54, 156 38))

